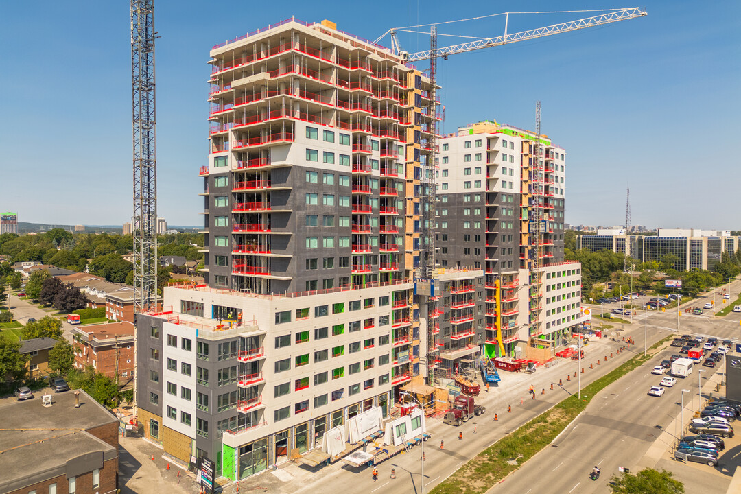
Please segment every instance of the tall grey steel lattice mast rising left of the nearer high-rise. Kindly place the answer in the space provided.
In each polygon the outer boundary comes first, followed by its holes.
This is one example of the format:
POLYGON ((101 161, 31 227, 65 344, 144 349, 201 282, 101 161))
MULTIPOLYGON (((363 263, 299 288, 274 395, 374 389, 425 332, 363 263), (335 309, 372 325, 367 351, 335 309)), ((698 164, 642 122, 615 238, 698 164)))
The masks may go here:
POLYGON ((157 299, 157 158, 154 1, 131 0, 134 312, 157 299))

